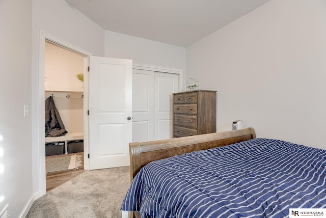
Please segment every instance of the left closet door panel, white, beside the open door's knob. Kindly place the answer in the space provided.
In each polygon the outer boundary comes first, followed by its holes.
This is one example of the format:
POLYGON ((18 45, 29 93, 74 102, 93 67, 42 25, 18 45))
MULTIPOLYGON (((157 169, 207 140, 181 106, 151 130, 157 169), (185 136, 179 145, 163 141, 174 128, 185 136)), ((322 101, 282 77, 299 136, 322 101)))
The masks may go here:
POLYGON ((154 71, 132 70, 132 141, 154 140, 154 71))

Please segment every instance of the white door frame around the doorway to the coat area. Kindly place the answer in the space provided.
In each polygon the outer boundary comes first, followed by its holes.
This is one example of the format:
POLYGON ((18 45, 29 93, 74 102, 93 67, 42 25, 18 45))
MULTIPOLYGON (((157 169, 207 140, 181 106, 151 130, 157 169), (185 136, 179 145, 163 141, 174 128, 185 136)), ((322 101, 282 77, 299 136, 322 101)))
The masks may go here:
MULTIPOLYGON (((78 53, 79 55, 84 56, 84 75, 88 73, 87 67, 89 66, 89 57, 93 54, 89 51, 86 51, 78 46, 75 46, 69 42, 61 40, 55 36, 52 36, 42 30, 39 31, 39 69, 38 69, 38 78, 39 78, 39 88, 38 88, 38 151, 39 151, 39 185, 40 193, 36 198, 43 196, 46 193, 46 172, 45 172, 45 42, 50 42, 64 49, 70 50, 72 52, 78 53)), ((89 135, 88 135, 88 104, 89 104, 89 93, 88 93, 88 74, 84 76, 84 152, 89 150, 89 135)), ((84 168, 87 170, 89 168, 89 160, 84 155, 84 168)), ((36 169, 35 169, 36 171, 36 169)))

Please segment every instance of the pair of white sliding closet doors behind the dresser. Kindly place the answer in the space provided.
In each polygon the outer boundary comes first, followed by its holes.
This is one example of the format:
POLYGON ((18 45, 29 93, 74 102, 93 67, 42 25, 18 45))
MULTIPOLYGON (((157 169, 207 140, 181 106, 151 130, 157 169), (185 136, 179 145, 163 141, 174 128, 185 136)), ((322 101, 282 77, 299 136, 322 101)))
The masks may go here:
POLYGON ((178 74, 133 69, 133 142, 172 138, 172 93, 178 90, 178 74))

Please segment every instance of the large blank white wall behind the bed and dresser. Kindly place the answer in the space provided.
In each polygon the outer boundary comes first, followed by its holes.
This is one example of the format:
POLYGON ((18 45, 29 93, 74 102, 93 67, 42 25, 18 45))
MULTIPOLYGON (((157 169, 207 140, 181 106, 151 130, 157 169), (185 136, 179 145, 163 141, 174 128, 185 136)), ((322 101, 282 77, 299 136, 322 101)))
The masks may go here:
POLYGON ((272 0, 186 49, 187 78, 218 91, 218 131, 326 149, 326 2, 272 0))

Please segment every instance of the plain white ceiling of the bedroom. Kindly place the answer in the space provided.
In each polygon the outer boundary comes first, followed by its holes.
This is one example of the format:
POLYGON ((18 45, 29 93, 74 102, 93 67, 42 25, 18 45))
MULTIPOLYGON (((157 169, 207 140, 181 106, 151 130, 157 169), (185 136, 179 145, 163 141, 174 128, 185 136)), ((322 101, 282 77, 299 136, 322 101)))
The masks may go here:
POLYGON ((65 0, 107 31, 187 47, 270 0, 65 0))

